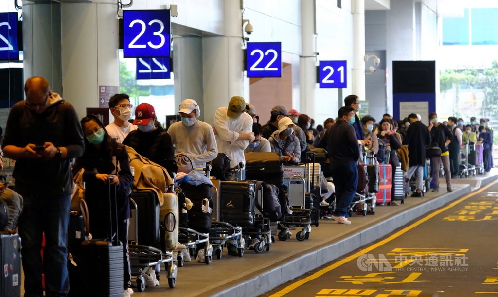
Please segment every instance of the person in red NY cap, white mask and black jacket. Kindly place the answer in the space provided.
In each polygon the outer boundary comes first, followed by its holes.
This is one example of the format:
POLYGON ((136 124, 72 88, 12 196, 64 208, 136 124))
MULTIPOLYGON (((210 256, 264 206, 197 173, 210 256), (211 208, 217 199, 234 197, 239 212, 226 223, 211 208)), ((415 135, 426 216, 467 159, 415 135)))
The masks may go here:
POLYGON ((156 125, 154 107, 149 103, 140 103, 135 108, 134 125, 137 129, 129 132, 123 141, 137 153, 150 161, 166 168, 171 174, 177 171, 173 162, 175 152, 171 137, 160 125, 156 125))

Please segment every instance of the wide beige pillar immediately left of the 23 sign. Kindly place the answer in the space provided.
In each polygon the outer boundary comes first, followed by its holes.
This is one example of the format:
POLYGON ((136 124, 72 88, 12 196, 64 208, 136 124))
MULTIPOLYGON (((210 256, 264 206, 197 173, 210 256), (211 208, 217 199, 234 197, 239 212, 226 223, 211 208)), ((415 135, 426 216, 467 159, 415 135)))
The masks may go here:
POLYGON ((99 106, 99 86, 119 86, 117 3, 61 4, 64 99, 82 117, 99 106))

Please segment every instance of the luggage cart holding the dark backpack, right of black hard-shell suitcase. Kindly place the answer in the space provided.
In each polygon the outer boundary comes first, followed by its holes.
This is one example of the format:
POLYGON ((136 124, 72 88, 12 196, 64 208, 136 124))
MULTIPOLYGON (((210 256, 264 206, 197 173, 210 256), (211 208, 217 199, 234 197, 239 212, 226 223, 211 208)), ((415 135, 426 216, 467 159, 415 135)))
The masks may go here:
POLYGON ((242 228, 242 236, 246 241, 247 247, 249 248, 249 240, 257 240, 258 242, 254 245, 254 252, 256 254, 262 253, 263 251, 269 251, 271 245, 271 232, 270 232, 270 220, 263 216, 263 188, 260 187, 256 192, 256 205, 257 197, 261 198, 258 213, 255 213, 254 225, 249 228, 242 228))

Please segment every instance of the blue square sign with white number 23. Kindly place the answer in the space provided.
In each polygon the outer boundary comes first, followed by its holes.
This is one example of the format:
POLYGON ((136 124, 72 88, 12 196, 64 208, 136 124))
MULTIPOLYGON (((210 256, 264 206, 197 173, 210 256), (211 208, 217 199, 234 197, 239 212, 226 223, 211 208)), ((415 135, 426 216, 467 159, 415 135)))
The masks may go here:
POLYGON ((170 57, 169 10, 124 10, 124 58, 170 57))

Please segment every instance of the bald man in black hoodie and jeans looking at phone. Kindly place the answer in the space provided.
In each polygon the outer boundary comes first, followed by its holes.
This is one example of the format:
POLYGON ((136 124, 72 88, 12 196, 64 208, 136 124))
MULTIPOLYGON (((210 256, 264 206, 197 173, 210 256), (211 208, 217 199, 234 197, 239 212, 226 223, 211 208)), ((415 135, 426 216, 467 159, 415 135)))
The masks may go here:
POLYGON ((3 151, 16 160, 12 177, 24 198, 19 235, 25 296, 43 296, 43 233, 47 296, 66 296, 66 234, 74 188, 69 163, 83 155, 83 132, 74 107, 52 93, 44 78, 27 79, 24 92, 26 100, 15 103, 8 114, 3 151))

